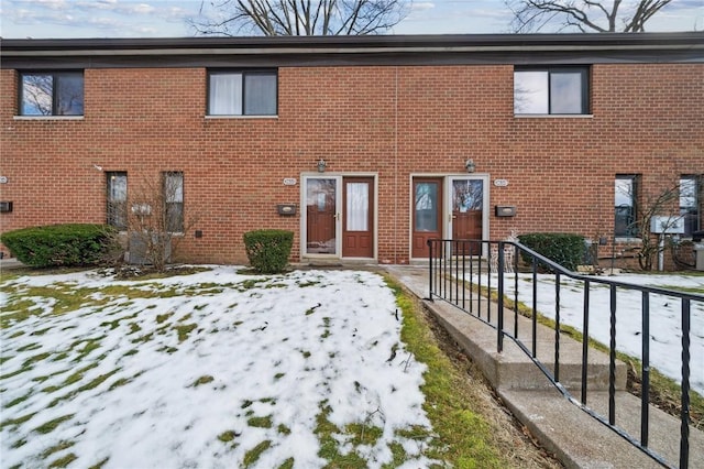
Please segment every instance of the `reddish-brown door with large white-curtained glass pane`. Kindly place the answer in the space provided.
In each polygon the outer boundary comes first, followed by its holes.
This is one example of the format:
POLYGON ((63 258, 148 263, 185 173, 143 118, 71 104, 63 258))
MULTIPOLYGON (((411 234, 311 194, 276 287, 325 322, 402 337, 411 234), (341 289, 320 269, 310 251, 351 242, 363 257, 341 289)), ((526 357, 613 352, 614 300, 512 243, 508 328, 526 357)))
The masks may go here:
POLYGON ((342 200, 342 255, 374 257, 374 178, 344 177, 342 200))

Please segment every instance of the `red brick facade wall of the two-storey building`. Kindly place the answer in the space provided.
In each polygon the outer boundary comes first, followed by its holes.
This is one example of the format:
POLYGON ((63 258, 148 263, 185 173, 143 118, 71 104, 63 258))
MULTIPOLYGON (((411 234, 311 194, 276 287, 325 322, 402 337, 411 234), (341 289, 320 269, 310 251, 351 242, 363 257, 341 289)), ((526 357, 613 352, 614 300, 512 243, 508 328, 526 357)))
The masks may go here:
POLYGON ((1 76, 2 231, 106 219, 105 171, 129 185, 163 171, 185 175, 186 260, 244 262, 242 234, 296 233, 301 173, 378 174, 378 260, 409 259, 410 175, 476 173, 491 204, 491 237, 509 230, 610 237, 615 174, 642 174, 654 193, 680 174, 704 173, 704 65, 594 65, 593 117, 515 118, 513 66, 286 67, 278 117, 207 119, 204 68, 87 69, 85 117, 15 119, 16 75, 1 76), (102 172, 94 165, 102 168, 102 172), (283 178, 295 177, 295 186, 283 178))

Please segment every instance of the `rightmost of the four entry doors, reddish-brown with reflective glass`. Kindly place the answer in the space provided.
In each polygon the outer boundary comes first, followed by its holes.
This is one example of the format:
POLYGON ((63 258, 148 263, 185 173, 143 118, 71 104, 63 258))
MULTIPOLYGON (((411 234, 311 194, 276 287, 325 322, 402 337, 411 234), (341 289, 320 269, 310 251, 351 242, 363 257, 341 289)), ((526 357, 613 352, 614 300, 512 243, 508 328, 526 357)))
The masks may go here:
MULTIPOLYGON (((450 179, 450 206, 452 208, 452 239, 483 237, 484 181, 476 178, 450 179)), ((480 243, 455 249, 455 254, 480 255, 480 243)))

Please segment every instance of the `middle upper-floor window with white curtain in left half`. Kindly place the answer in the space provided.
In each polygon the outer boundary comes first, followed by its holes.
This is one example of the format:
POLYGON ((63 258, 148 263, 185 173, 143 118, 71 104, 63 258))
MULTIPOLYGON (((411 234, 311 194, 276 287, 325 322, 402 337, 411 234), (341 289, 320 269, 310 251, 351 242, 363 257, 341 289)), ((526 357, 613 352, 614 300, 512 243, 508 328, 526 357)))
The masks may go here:
POLYGON ((210 72, 208 114, 276 116, 276 70, 210 72))

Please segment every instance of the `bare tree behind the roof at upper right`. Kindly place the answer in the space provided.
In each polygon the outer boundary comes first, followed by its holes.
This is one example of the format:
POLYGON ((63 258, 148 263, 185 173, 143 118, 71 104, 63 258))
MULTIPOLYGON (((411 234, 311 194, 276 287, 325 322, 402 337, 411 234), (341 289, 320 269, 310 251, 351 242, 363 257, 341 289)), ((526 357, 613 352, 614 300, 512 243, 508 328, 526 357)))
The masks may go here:
POLYGON ((504 0, 514 13, 512 30, 639 33, 672 0, 504 0))

